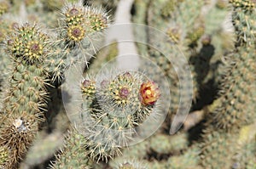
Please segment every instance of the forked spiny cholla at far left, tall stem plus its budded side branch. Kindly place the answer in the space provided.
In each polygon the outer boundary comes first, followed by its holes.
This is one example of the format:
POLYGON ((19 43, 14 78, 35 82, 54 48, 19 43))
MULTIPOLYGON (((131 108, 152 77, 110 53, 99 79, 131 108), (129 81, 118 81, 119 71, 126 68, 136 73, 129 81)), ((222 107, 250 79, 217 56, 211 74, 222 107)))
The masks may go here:
POLYGON ((63 70, 76 59, 87 53, 90 58, 91 38, 96 36, 92 34, 108 26, 108 15, 102 9, 84 7, 82 1, 67 3, 61 14, 56 37, 49 39, 37 25, 25 24, 15 26, 6 42, 13 70, 0 130, 0 144, 10 149, 4 167, 18 166, 44 121, 48 82, 60 82, 63 70))

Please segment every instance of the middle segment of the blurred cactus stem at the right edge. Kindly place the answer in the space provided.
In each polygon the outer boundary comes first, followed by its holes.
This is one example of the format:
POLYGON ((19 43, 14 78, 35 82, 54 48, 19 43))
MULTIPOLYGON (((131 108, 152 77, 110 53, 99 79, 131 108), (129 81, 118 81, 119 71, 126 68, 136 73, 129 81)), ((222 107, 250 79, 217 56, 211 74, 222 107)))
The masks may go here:
MULTIPOLYGON (((252 47, 251 47, 252 48, 252 47)), ((240 128, 253 122, 255 115, 253 113, 253 91, 256 65, 255 50, 241 48, 234 54, 236 63, 231 65, 229 74, 224 82, 226 88, 224 96, 221 98, 222 106, 214 115, 214 123, 226 130, 240 128), (250 63, 250 64, 249 64, 250 63)))

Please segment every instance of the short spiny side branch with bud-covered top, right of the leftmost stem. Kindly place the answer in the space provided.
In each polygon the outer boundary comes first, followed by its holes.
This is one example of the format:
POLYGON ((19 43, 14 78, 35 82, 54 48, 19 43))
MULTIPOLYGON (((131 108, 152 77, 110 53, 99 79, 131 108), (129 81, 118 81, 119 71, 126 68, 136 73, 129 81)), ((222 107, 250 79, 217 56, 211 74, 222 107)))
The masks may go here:
POLYGON ((96 41, 102 40, 102 31, 109 25, 108 14, 102 8, 84 6, 83 1, 65 3, 61 9, 60 27, 49 54, 49 72, 52 81, 61 82, 69 65, 84 60, 89 64, 96 52, 96 41))

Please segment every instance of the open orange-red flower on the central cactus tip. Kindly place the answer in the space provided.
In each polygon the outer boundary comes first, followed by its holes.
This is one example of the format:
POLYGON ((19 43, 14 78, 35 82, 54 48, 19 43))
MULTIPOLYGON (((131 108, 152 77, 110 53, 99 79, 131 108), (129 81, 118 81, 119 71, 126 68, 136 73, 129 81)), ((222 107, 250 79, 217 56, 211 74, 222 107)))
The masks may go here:
POLYGON ((143 82, 140 96, 143 104, 153 105, 160 98, 160 90, 155 82, 143 82))

